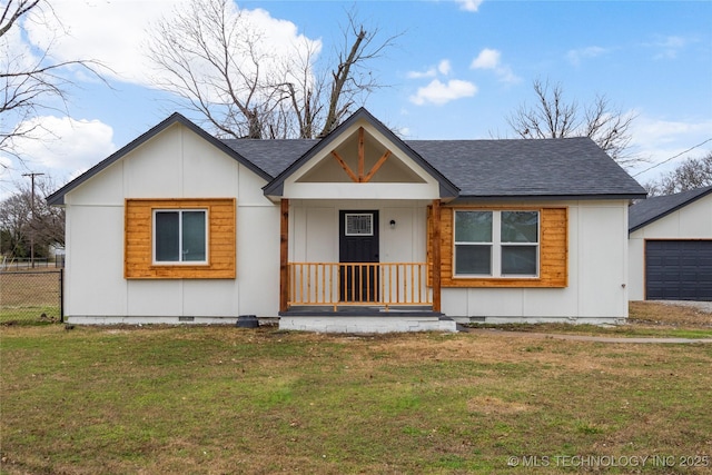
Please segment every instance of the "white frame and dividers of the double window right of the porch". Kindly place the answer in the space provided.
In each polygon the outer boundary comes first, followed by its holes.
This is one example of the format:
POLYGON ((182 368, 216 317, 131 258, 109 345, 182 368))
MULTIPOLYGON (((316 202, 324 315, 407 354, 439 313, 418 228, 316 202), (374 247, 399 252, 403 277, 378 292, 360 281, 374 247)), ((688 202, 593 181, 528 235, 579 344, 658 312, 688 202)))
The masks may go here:
POLYGON ((538 278, 541 273, 541 248, 542 248, 542 214, 538 209, 455 209, 453 212, 453 275, 458 278, 503 278, 503 279, 526 279, 538 278), (469 243, 457 241, 455 236, 457 212, 461 211, 479 211, 492 212, 492 241, 491 243, 469 243), (536 244, 534 243, 502 243, 502 212, 536 212, 536 244), (491 274, 459 274, 457 273, 457 246, 490 246, 492 253, 490 255, 491 274), (502 248, 503 247, 536 247, 536 273, 535 274, 503 274, 502 273, 502 248))

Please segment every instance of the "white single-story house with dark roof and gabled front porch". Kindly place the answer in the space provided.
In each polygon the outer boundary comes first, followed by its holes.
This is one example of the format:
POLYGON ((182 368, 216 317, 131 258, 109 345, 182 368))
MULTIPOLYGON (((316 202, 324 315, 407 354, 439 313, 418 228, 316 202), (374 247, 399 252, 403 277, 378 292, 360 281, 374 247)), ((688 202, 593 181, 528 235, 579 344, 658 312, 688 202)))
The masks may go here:
POLYGON ((392 331, 622 321, 644 196, 587 138, 404 141, 359 109, 318 140, 175 113, 48 200, 70 323, 392 331))

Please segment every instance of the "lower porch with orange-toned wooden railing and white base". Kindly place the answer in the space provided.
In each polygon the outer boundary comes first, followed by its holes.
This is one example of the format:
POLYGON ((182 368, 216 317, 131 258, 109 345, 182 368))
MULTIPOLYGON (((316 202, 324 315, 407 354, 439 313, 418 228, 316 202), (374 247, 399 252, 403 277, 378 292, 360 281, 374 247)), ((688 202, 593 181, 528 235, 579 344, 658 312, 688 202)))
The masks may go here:
POLYGON ((456 324, 433 307, 426 263, 289 263, 279 328, 456 331, 456 324))

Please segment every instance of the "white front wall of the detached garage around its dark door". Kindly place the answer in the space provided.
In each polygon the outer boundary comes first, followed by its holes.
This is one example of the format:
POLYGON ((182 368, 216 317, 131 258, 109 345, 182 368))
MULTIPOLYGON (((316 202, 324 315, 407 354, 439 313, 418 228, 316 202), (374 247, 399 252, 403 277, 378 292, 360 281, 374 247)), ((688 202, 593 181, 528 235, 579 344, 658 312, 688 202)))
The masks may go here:
POLYGON ((629 237, 631 300, 645 299, 645 240, 646 239, 712 239, 712 195, 693 201, 656 221, 644 226, 629 237))

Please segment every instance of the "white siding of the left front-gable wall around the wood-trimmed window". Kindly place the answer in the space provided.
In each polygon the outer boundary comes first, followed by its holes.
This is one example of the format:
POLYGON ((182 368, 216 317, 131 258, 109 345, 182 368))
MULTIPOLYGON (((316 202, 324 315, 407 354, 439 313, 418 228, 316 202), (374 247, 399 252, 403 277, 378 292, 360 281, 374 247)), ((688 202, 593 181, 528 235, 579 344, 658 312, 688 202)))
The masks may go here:
POLYGON ((234 321, 277 315, 279 209, 266 181, 189 129, 175 125, 65 197, 67 296, 73 323, 234 321), (237 198, 237 278, 123 278, 127 198, 237 198))

